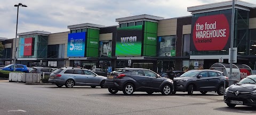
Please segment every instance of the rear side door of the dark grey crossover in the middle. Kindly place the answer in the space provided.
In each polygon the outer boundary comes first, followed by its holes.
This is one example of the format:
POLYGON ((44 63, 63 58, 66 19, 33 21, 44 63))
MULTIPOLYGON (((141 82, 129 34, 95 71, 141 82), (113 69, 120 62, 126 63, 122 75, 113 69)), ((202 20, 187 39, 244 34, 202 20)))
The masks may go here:
POLYGON ((137 85, 136 90, 137 91, 145 91, 149 88, 149 78, 144 75, 144 72, 142 70, 133 70, 131 71, 131 78, 135 79, 137 85))

